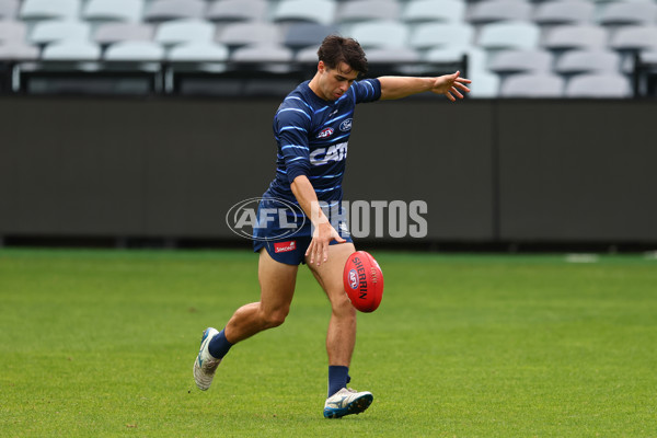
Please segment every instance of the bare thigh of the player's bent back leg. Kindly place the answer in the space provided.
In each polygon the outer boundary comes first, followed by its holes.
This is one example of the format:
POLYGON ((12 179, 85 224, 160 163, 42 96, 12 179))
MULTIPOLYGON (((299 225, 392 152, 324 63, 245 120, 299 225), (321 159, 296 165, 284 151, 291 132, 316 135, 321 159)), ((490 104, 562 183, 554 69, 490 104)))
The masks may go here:
POLYGON ((265 249, 260 252, 257 276, 261 286, 261 309, 266 312, 289 310, 299 266, 276 262, 265 249))

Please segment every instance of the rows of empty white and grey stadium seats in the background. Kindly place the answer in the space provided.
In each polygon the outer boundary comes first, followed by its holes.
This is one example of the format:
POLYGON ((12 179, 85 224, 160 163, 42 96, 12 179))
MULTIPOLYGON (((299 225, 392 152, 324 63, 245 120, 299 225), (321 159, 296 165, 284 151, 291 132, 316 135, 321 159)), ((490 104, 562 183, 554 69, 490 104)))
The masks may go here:
POLYGON ((635 55, 657 64, 654 0, 0 0, 2 19, 0 60, 212 62, 214 71, 227 62, 286 71, 316 60, 321 39, 338 32, 400 72, 466 55, 481 97, 576 95, 590 74, 608 84, 591 87, 595 95, 627 96, 635 55))

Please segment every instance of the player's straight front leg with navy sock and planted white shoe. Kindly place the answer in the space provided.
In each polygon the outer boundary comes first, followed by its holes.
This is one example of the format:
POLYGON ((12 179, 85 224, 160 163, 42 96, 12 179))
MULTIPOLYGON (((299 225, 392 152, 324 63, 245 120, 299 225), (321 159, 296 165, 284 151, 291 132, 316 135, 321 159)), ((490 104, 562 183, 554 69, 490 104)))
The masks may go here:
POLYGON ((345 292, 343 269, 354 251, 356 250, 353 243, 331 245, 325 263, 320 266, 308 264, 326 292, 332 309, 326 333, 328 397, 324 404, 324 416, 327 418, 359 414, 373 401, 370 392, 357 392, 346 388, 348 367, 356 345, 356 309, 345 292))

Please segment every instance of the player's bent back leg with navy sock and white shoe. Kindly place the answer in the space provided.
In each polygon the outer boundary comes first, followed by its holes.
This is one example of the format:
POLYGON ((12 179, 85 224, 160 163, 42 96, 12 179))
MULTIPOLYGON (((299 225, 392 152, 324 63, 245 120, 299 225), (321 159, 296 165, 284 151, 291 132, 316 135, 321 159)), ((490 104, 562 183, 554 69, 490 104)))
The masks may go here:
POLYGON ((261 300, 238 309, 223 331, 208 327, 204 332, 200 350, 194 360, 194 380, 200 390, 210 388, 217 367, 232 345, 283 324, 295 295, 297 270, 298 266, 276 262, 266 250, 261 251, 261 300))

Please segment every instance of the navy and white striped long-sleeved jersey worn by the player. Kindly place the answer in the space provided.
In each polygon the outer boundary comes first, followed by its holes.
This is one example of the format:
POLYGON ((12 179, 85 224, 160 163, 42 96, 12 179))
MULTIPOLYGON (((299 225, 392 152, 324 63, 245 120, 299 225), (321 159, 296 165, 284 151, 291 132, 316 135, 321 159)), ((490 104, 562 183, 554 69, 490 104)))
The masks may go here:
POLYGON ((379 100, 381 84, 378 79, 354 81, 337 101, 328 102, 319 97, 309 83, 301 83, 288 94, 274 116, 276 178, 265 197, 296 204, 290 184, 306 175, 320 201, 339 201, 355 106, 379 100))

